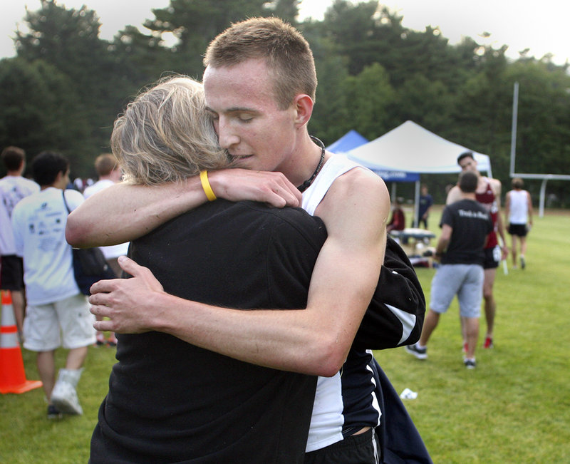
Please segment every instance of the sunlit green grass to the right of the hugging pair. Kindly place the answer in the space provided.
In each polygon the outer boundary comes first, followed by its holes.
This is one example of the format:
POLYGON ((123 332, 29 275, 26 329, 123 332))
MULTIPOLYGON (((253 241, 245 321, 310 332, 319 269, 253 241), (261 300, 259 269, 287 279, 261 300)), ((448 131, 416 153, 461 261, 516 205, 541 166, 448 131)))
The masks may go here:
MULTIPOLYGON (((498 269, 495 347, 477 347, 474 371, 462 365, 457 300, 427 360, 375 353, 398 392, 418 392, 405 405, 435 463, 570 463, 569 230, 570 215, 535 218, 527 269, 498 269)), ((428 304, 434 272, 418 269, 428 304)))

